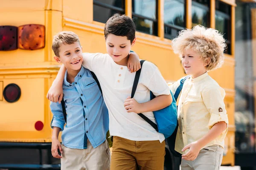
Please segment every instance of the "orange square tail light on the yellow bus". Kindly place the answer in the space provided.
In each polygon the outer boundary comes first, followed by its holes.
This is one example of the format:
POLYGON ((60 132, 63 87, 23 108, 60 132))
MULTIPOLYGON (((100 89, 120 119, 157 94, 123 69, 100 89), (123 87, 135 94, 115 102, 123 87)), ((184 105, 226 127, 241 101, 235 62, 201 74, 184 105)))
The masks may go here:
POLYGON ((18 27, 18 48, 24 50, 37 50, 44 48, 45 27, 43 25, 29 24, 18 27))

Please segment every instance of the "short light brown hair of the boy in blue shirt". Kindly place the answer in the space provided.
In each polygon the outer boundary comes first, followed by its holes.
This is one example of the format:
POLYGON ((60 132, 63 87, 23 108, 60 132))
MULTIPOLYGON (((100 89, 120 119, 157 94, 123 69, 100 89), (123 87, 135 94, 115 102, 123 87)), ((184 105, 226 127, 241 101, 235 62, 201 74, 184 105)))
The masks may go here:
POLYGON ((56 34, 52 40, 52 50, 55 56, 59 57, 61 44, 73 44, 75 42, 79 42, 80 45, 78 35, 76 35, 72 31, 61 31, 58 34, 56 34))

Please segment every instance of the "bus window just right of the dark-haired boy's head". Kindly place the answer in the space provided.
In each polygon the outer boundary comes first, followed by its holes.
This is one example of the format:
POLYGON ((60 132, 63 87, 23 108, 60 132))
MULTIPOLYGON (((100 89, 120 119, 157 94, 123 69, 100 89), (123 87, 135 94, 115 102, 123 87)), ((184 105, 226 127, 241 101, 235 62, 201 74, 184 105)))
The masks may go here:
POLYGON ((157 0, 132 0, 136 30, 157 36, 157 0))

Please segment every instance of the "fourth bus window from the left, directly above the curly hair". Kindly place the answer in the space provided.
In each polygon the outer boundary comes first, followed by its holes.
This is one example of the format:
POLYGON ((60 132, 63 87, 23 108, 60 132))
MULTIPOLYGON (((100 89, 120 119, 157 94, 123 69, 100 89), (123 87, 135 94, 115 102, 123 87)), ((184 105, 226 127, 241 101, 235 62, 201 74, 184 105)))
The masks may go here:
POLYGON ((192 26, 209 27, 209 0, 192 0, 192 26))

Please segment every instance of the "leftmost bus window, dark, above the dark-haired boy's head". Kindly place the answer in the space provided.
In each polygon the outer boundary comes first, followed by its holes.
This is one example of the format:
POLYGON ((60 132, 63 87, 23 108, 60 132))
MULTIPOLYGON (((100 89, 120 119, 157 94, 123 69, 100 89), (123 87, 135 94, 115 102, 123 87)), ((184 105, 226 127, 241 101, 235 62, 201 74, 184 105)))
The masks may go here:
POLYGON ((113 14, 125 14, 125 0, 93 0, 93 20, 106 23, 113 14))

